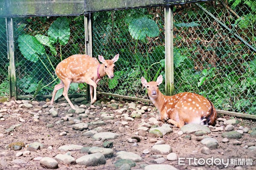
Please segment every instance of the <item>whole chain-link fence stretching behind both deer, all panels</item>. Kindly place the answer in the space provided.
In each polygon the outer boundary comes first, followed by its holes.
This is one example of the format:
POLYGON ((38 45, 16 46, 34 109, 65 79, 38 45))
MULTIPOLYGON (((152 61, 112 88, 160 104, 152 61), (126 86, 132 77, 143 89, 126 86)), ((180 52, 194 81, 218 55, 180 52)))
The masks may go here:
MULTIPOLYGON (((255 114, 255 26, 256 14, 248 5, 212 1, 175 6, 175 93, 195 92, 217 109, 255 114)), ((17 94, 35 94, 40 82, 39 95, 51 94, 59 82, 56 65, 84 54, 84 17, 15 18, 14 28, 17 94)), ((114 79, 102 79, 97 91, 147 98, 140 78, 165 76, 164 28, 164 7, 93 13, 93 57, 120 54, 114 79)), ((79 92, 85 90, 79 84, 79 92)))

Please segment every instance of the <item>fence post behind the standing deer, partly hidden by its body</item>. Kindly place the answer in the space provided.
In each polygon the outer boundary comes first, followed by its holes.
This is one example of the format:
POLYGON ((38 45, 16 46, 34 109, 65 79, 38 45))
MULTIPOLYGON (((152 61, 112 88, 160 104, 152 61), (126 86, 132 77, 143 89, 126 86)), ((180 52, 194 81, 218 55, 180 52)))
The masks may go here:
MULTIPOLYGON (((84 16, 84 34, 85 34, 85 54, 93 57, 93 14, 89 13, 84 16)), ((90 85, 87 85, 86 99, 90 100, 90 85)))

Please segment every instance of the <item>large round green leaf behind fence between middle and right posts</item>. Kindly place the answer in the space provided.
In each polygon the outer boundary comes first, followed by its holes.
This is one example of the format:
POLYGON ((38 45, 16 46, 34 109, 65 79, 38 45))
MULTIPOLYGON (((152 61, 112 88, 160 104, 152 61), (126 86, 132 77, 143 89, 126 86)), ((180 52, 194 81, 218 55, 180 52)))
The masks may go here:
POLYGON ((131 36, 136 40, 142 40, 146 36, 157 37, 160 33, 154 20, 148 19, 147 17, 130 20, 128 29, 131 36))

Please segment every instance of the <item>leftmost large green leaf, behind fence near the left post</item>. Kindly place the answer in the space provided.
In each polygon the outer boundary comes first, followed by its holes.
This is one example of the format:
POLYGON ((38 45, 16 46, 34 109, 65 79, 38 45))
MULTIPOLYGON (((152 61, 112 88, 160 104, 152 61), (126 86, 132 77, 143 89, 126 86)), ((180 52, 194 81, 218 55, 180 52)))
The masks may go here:
POLYGON ((21 54, 29 61, 37 62, 38 58, 45 54, 44 46, 31 35, 20 35, 18 43, 21 54))

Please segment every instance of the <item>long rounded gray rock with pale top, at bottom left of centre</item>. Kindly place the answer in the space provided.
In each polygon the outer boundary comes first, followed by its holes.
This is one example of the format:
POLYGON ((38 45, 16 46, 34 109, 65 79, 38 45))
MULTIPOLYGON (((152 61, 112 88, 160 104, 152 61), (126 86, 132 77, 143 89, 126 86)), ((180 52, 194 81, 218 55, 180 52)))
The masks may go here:
POLYGON ((99 164, 105 164, 106 159, 102 153, 93 153, 90 155, 85 155, 76 159, 76 164, 85 165, 87 167, 96 166, 99 164))

